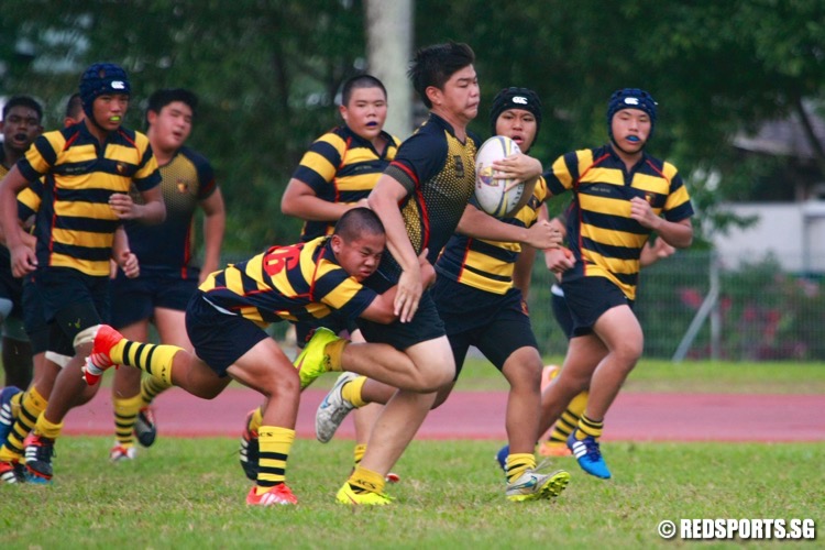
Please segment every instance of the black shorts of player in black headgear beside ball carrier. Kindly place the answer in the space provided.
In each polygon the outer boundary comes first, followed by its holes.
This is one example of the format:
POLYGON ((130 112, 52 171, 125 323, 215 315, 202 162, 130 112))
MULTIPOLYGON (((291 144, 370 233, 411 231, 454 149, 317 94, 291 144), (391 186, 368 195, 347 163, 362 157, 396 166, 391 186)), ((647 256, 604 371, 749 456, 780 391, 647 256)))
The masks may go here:
POLYGON ((444 321, 455 359, 457 378, 471 345, 479 348, 499 371, 516 350, 538 350, 518 288, 498 295, 439 277, 432 288, 432 298, 444 321))

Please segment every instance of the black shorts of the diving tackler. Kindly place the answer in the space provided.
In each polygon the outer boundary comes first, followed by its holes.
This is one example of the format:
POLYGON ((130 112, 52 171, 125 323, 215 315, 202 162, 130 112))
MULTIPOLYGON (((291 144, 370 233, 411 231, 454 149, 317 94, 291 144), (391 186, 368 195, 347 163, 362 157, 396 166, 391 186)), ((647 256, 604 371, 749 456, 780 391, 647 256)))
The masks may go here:
POLYGON ((195 354, 221 377, 244 353, 270 338, 249 319, 216 309, 200 290, 186 308, 186 332, 195 354))

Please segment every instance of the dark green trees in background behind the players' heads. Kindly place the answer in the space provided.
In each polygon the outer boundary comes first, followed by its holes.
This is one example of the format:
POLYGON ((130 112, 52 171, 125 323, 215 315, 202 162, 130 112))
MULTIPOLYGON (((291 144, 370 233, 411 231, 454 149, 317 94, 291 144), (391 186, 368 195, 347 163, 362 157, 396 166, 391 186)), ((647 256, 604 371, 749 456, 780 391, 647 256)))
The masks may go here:
MULTIPOLYGON (((34 94, 56 117, 95 61, 130 70, 139 107, 157 87, 190 87, 204 103, 193 145, 227 195, 227 248, 295 239, 280 195, 301 152, 337 123, 340 82, 365 63, 362 2, 18 0, 1 12, 0 94, 34 94)), ((825 3, 814 0, 418 0, 414 21, 418 46, 452 38, 475 50, 480 134, 501 88, 540 94, 547 116, 534 153, 546 163, 605 142, 613 90, 651 91, 660 123, 650 151, 688 178, 702 229, 741 221, 718 205, 776 167, 744 162, 732 136, 825 96, 825 3)))

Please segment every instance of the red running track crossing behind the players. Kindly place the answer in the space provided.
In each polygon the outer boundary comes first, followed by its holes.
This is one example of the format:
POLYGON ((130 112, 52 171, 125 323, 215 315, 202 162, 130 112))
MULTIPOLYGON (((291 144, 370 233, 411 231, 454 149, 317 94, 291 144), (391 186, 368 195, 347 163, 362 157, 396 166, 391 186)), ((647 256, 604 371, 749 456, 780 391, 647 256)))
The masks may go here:
MULTIPOLYGON (((296 431, 315 437, 321 391, 302 395, 296 431)), ((506 440, 506 393, 459 392, 430 413, 421 439, 506 440)), ((261 403, 251 389, 230 387, 213 400, 178 388, 156 402, 161 436, 240 436, 249 410, 261 403)), ((825 395, 635 394, 622 393, 607 416, 605 440, 613 441, 825 441, 825 395)), ((114 435, 109 388, 69 413, 64 433, 114 435)), ((354 438, 348 418, 338 437, 354 438)))

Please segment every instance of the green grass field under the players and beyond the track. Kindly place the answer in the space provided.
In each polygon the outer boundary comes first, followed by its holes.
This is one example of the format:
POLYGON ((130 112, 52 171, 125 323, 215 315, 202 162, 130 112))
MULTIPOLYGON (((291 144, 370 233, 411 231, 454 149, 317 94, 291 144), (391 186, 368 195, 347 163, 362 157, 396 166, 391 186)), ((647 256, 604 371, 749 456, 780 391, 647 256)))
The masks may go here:
MULTIPOLYGON (((503 387, 501 375, 482 364, 465 375, 463 389, 503 387)), ((628 389, 661 392, 824 387, 823 365, 795 364, 644 363, 628 382, 628 389)), ((818 527, 825 517, 825 442, 606 443, 613 480, 557 459, 554 466, 572 474, 561 497, 513 504, 493 462, 495 442, 416 441, 394 469, 403 476, 389 487, 395 505, 378 509, 334 503, 351 441, 297 441, 288 479, 300 505, 270 509, 243 504, 251 484, 238 465, 235 439, 161 438, 139 460, 120 464, 107 460, 110 443, 64 438, 52 486, 0 485, 0 547, 647 548, 684 544, 659 538, 664 519, 812 518, 818 527)))

